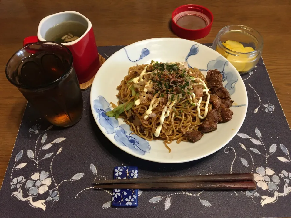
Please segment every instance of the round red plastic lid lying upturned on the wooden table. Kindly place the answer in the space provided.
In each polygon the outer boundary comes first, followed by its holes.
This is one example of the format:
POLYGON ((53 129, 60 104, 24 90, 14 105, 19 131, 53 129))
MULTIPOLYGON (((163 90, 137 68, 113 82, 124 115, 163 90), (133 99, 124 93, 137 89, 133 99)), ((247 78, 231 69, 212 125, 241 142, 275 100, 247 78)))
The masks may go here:
POLYGON ((182 5, 172 13, 172 31, 185 39, 200 39, 211 30, 213 14, 201 5, 182 5))

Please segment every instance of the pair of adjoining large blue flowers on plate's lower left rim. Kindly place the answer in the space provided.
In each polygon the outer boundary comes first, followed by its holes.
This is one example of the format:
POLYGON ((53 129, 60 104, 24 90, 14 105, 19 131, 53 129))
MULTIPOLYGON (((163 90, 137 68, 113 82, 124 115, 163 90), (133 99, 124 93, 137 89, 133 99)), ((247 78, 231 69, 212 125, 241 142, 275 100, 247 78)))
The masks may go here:
POLYGON ((130 131, 129 125, 121 124, 119 126, 118 120, 115 117, 108 117, 106 115, 106 112, 111 111, 111 108, 103 96, 99 95, 93 101, 93 111, 97 114, 98 122, 105 128, 105 132, 108 134, 115 133, 114 139, 120 145, 130 148, 136 154, 144 155, 149 153, 151 147, 147 140, 131 134, 132 131, 130 131))

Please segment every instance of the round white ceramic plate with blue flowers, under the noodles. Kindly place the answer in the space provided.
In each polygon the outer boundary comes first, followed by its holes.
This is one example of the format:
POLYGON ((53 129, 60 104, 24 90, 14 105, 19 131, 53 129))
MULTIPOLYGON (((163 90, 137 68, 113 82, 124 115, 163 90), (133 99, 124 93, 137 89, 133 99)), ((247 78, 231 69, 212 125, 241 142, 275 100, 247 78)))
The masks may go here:
POLYGON ((160 163, 182 163, 206 157, 225 146, 239 131, 247 111, 247 93, 242 78, 222 55, 205 45, 179 39, 154 38, 139 41, 120 49, 101 66, 96 74, 90 103, 95 121, 103 134, 125 152, 145 160, 160 163), (116 87, 127 75, 128 68, 136 64, 149 64, 151 60, 162 62, 187 61, 189 66, 199 68, 205 75, 209 69, 218 69, 223 75, 223 85, 234 101, 233 118, 218 124, 217 130, 206 133, 196 143, 172 142, 164 146, 162 140, 148 142, 132 135, 122 119, 107 117, 105 111, 112 108, 109 102, 117 103, 116 87))

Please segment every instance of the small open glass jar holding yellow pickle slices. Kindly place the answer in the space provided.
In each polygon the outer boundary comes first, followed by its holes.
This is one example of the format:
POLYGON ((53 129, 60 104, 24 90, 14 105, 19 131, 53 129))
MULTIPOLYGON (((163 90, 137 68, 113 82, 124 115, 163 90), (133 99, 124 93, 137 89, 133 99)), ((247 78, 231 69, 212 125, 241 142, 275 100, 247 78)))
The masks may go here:
POLYGON ((258 63, 263 50, 263 37, 253 28, 243 25, 229 25, 218 32, 212 48, 232 63, 240 74, 244 74, 253 70, 258 63), (227 40, 239 42, 237 45, 243 44, 244 48, 251 47, 253 48, 251 50, 254 51, 238 52, 240 49, 228 46, 225 43, 227 40))

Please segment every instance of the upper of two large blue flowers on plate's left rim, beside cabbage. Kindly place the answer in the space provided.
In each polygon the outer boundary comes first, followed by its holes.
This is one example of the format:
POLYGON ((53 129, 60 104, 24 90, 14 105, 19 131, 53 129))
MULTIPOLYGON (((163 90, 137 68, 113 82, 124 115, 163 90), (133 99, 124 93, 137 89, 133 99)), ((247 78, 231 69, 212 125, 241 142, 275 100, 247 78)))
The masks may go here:
POLYGON ((111 111, 109 103, 105 100, 104 97, 98 96, 93 103, 94 111, 98 114, 99 124, 105 128, 106 133, 112 134, 115 132, 115 128, 118 127, 118 121, 115 117, 108 117, 106 112, 111 111))

